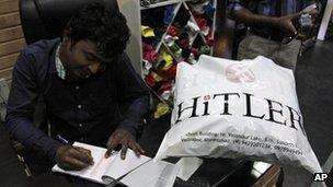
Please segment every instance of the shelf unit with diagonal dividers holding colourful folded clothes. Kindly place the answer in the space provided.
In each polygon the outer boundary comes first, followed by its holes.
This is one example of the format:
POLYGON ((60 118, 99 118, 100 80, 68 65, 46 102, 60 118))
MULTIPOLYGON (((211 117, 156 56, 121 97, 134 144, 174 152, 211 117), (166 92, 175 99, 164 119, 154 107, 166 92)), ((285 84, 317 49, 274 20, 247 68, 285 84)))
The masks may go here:
MULTIPOLYGON (((151 66, 150 69, 145 69, 147 74, 145 81, 160 103, 171 108, 176 65, 181 61, 195 63, 202 54, 211 55, 213 52, 211 46, 207 44, 197 23, 196 16, 199 15, 192 10, 193 2, 169 0, 140 9, 141 25, 150 26, 156 33, 156 37, 141 38, 143 59, 148 60, 146 65, 151 66), (173 9, 172 17, 170 9, 173 9), (165 24, 164 15, 170 16, 166 19, 168 24, 165 24)), ((206 0, 206 2, 216 5, 216 0, 206 0)), ((209 26, 208 35, 213 37, 215 12, 213 17, 206 19, 209 26)))

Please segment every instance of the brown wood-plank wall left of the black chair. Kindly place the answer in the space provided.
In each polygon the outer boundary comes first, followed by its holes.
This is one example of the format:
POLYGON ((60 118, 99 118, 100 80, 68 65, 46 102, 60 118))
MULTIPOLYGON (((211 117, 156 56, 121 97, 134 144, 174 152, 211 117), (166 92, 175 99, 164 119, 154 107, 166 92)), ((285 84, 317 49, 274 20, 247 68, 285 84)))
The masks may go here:
POLYGON ((0 79, 11 82, 13 66, 24 46, 19 0, 0 0, 0 79))

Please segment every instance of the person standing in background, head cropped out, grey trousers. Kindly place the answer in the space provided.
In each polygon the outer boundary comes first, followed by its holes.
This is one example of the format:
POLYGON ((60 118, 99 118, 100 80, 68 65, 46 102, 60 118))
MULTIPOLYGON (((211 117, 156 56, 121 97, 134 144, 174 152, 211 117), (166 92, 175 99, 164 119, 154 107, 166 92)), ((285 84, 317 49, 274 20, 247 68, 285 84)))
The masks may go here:
POLYGON ((229 16, 238 28, 246 30, 237 59, 262 55, 295 71, 303 37, 300 28, 313 22, 317 9, 313 0, 229 0, 229 16))

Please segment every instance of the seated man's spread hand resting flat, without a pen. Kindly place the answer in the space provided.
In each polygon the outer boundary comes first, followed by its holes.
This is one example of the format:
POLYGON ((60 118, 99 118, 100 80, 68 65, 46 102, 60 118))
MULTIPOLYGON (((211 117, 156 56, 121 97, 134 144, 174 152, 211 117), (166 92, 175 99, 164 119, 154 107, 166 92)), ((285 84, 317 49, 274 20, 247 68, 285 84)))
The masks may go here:
POLYGON ((120 156, 124 160, 126 156, 127 148, 129 147, 138 156, 145 151, 139 145, 139 143, 136 142, 134 136, 124 129, 116 129, 107 141, 107 151, 105 153, 105 157, 108 157, 112 153, 112 151, 118 145, 122 144, 122 151, 120 156))

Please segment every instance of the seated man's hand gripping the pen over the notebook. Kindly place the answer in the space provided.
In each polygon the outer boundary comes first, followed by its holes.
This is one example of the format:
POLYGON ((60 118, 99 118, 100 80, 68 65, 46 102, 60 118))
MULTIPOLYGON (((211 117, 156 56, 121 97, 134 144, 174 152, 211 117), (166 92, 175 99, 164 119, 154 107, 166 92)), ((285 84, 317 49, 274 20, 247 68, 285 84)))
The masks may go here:
POLYGON ((57 150, 56 162, 66 171, 80 171, 93 165, 91 151, 80 147, 62 145, 57 150))

